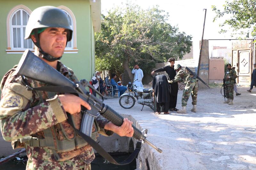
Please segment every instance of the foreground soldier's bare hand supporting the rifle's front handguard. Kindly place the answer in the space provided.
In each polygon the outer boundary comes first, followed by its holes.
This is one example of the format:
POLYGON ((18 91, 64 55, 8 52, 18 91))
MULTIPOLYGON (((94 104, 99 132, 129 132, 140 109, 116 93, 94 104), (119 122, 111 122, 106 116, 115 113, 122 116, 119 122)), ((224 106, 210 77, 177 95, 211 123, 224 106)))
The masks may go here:
POLYGON ((104 129, 111 130, 121 137, 132 137, 134 132, 132 128, 132 121, 129 121, 127 118, 124 118, 124 122, 121 126, 116 126, 112 122, 108 122, 104 129))

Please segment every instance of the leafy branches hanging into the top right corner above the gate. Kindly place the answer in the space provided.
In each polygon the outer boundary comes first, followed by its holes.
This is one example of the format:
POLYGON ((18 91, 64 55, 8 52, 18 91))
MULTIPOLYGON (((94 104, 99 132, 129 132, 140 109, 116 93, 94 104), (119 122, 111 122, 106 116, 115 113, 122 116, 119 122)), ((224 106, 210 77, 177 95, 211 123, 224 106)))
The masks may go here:
MULTIPOLYGON (((212 11, 215 11, 216 16, 213 22, 221 17, 228 17, 220 27, 230 26, 233 33, 231 36, 239 35, 239 38, 253 38, 256 35, 256 1, 255 0, 233 0, 232 2, 226 1, 223 5, 223 11, 212 5, 212 11)), ((220 33, 226 33, 226 29, 221 29, 220 33)))

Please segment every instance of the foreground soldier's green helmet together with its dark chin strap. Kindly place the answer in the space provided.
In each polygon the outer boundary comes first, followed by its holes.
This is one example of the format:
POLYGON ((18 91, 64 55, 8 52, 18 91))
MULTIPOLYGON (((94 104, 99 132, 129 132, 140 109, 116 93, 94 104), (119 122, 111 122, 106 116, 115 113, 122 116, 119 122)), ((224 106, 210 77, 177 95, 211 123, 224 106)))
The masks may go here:
POLYGON ((39 33, 43 32, 48 27, 67 29, 67 43, 72 39, 73 30, 69 26, 67 14, 59 8, 56 8, 54 6, 41 6, 39 8, 36 8, 31 13, 28 19, 28 24, 26 26, 25 39, 31 38, 31 35, 34 34, 36 42, 33 42, 38 47, 39 52, 42 54, 42 58, 52 62, 59 60, 62 56, 56 58, 45 53, 40 46, 38 36, 39 33))

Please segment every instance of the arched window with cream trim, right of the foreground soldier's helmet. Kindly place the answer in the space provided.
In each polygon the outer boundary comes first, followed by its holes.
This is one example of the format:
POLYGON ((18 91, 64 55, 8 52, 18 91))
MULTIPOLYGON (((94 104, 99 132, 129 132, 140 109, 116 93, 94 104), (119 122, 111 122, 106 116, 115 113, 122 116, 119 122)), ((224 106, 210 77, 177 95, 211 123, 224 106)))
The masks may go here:
POLYGON ((72 40, 68 42, 65 51, 70 52, 70 53, 77 52, 77 48, 76 48, 76 18, 74 16, 73 12, 68 7, 61 5, 61 6, 58 6, 57 8, 60 8, 67 14, 69 26, 73 30, 72 40))

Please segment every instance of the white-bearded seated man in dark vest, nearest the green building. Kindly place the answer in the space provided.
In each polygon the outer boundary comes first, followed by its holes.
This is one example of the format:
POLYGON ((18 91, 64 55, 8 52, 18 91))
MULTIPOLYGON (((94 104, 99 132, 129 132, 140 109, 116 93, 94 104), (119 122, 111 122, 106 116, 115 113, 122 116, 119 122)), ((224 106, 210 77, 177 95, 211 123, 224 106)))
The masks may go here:
MULTIPOLYGON (((102 96, 104 96, 104 92, 106 93, 106 95, 108 95, 108 91, 106 89, 106 85, 105 82, 102 80, 102 78, 100 77, 100 72, 96 71, 95 72, 95 76, 92 77, 92 86, 100 92, 100 94, 102 94, 102 96)), ((94 96, 96 96, 96 92, 92 92, 94 96)), ((107 100, 107 98, 104 97, 105 100, 107 100)))

